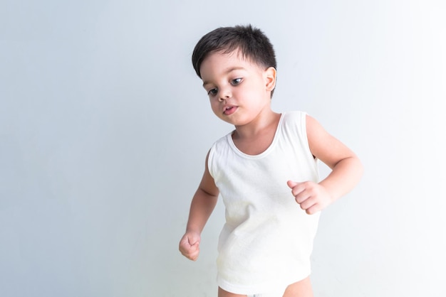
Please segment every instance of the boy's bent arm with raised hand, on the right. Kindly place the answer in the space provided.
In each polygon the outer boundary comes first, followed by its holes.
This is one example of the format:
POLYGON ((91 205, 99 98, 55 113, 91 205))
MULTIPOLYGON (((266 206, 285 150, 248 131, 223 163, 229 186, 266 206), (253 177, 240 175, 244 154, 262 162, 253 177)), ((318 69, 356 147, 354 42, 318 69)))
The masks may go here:
POLYGON ((296 202, 312 214, 348 193, 361 179, 363 166, 350 148, 328 134, 316 119, 308 115, 306 133, 313 156, 332 169, 320 183, 288 182, 296 202))

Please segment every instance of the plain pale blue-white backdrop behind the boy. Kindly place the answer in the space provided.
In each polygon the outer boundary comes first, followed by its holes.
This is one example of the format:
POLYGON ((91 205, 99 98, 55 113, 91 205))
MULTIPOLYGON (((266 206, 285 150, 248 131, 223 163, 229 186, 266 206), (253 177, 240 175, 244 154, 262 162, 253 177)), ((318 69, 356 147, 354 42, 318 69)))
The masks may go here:
POLYGON ((308 112, 365 166, 321 215, 315 296, 446 296, 445 16, 442 0, 1 0, 0 296, 216 296, 221 201, 198 261, 178 242, 233 128, 190 57, 247 23, 276 48, 273 109, 308 112))

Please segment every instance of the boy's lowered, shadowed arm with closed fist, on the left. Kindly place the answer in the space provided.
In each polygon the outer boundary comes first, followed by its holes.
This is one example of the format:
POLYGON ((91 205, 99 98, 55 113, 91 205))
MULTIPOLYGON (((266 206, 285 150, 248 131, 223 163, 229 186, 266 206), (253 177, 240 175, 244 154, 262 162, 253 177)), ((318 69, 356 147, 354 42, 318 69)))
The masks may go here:
POLYGON ((219 195, 219 190, 214 183, 214 178, 212 178, 207 168, 208 158, 209 153, 206 156, 206 166, 204 168, 202 180, 192 198, 186 233, 180 240, 180 252, 193 261, 198 258, 199 241, 201 239, 200 235, 217 204, 219 195))

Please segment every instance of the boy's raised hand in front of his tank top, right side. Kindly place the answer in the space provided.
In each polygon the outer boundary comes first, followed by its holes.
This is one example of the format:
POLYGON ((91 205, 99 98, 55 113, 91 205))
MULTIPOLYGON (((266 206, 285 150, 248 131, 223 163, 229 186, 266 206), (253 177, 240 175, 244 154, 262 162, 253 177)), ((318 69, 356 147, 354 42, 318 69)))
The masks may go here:
POLYGON ((301 209, 305 210, 308 215, 313 215, 314 213, 323 210, 323 208, 330 205, 333 201, 326 188, 318 183, 313 183, 311 181, 296 183, 292 180, 288 180, 287 184, 289 188, 291 188, 291 193, 296 202, 299 203, 301 209))

